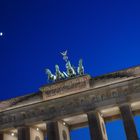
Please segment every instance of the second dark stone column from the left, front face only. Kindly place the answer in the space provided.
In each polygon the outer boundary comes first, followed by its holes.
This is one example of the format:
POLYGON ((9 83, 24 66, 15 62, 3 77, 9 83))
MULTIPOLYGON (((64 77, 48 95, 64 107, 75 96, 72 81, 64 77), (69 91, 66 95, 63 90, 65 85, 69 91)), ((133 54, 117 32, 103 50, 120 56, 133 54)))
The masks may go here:
POLYGON ((50 121, 47 123, 47 139, 59 140, 58 123, 56 121, 50 121))

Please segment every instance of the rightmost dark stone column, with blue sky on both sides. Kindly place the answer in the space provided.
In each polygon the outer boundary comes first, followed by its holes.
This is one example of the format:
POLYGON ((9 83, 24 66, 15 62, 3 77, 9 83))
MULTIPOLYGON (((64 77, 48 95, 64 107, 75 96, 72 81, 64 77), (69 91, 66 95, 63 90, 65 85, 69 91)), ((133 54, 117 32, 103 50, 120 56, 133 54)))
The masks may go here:
POLYGON ((138 140, 133 114, 129 105, 121 105, 120 112, 123 119, 127 140, 138 140))

